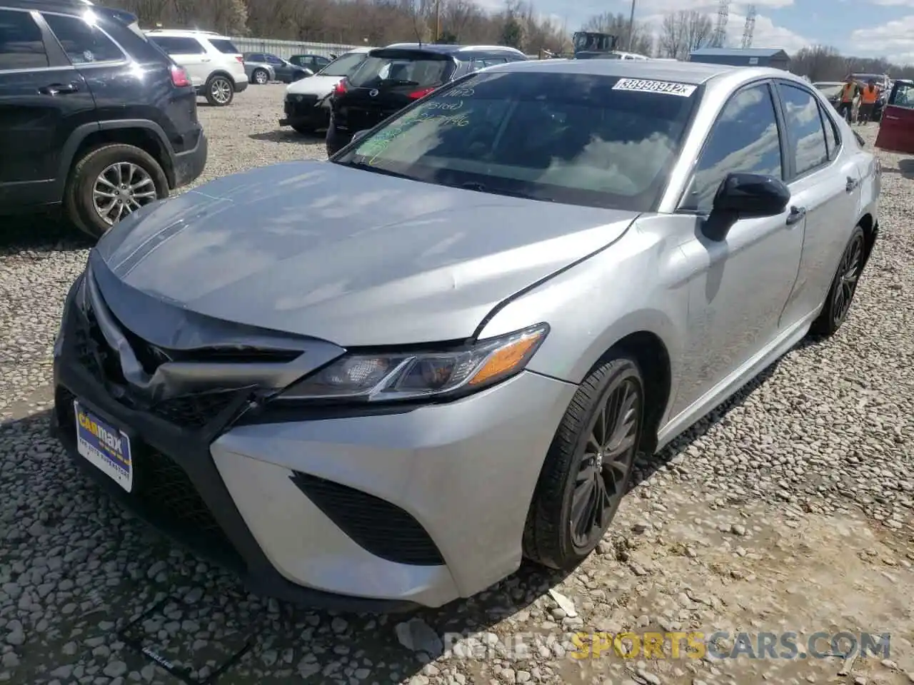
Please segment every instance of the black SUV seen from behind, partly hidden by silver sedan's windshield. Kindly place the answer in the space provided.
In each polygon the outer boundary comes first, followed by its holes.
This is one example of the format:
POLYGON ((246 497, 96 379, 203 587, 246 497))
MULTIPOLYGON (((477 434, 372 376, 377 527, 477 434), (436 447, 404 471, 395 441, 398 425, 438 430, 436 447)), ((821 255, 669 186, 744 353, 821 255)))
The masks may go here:
POLYGON ((526 60, 514 47, 396 43, 368 53, 330 100, 327 154, 432 90, 481 68, 526 60))

